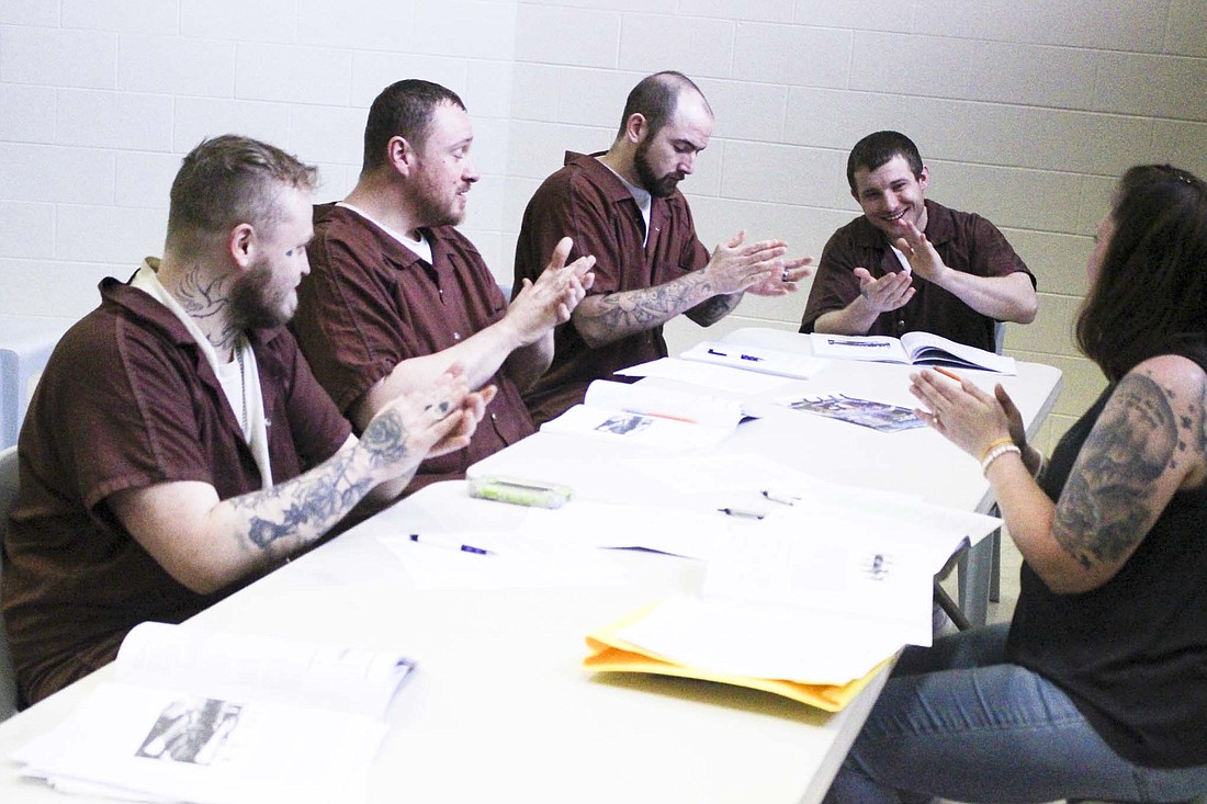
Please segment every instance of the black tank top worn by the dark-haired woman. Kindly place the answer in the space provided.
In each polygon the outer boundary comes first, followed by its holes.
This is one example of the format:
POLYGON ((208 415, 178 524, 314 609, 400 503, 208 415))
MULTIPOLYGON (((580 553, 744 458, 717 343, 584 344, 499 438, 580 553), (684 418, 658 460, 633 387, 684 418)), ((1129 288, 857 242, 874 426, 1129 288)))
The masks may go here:
MULTIPOLYGON (((1207 372, 1202 339, 1171 351, 1207 372)), ((1056 500, 1112 385, 1053 453, 1056 500)), ((1026 564, 1007 656, 1063 689, 1124 758, 1155 768, 1207 764, 1207 484, 1180 491, 1131 559, 1084 594, 1053 594, 1026 564)))

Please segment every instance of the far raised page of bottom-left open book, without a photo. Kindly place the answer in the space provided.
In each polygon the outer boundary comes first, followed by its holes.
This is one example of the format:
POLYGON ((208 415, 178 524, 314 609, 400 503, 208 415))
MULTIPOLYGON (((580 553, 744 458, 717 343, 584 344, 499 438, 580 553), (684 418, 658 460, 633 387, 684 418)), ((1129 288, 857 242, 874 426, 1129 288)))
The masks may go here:
POLYGON ((141 623, 117 654, 118 681, 196 695, 292 703, 380 717, 414 669, 401 653, 141 623))

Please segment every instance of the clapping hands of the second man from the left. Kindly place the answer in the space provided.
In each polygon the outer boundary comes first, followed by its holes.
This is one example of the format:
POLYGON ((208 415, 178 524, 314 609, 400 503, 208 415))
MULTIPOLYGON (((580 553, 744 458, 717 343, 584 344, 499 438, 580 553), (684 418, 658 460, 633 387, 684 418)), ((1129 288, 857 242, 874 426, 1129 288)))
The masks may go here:
POLYGON ((561 238, 549 257, 549 264, 536 282, 524 279, 520 292, 507 308, 507 321, 515 332, 518 346, 526 346, 546 336, 553 327, 570 320, 578 303, 595 282, 595 257, 579 257, 566 264, 573 240, 561 238))

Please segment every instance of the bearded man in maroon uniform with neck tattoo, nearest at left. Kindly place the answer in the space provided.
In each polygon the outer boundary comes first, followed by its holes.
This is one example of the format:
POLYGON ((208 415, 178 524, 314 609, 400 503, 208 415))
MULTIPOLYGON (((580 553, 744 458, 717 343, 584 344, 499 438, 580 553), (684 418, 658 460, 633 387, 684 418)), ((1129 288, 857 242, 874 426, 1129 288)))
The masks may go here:
POLYGON ((104 280, 51 356, 4 543, 27 703, 111 662, 138 623, 196 614, 366 495, 392 499, 424 455, 468 443, 486 398, 455 372, 358 441, 282 328, 308 270, 313 183, 314 168, 270 145, 202 142, 173 183, 163 260, 104 280))

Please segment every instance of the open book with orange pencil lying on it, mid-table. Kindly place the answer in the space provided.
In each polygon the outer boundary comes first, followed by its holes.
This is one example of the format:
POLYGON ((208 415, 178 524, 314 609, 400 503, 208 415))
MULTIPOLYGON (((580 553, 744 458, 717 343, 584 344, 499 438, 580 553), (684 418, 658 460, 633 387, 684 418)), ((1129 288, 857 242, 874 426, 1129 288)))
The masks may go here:
POLYGON ((747 418, 740 402, 694 391, 595 380, 544 432, 590 433, 651 447, 710 447, 747 418))

